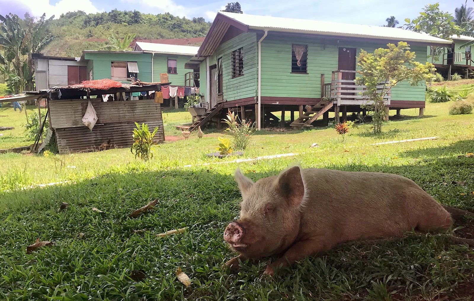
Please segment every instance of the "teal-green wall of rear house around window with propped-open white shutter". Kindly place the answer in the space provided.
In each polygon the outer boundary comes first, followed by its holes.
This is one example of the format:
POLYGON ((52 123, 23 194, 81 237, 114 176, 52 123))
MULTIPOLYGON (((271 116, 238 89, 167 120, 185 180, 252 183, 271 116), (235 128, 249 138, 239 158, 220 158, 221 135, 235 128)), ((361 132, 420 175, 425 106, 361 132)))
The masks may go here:
POLYGON ((84 58, 93 61, 94 80, 111 78, 111 62, 137 62, 138 78, 151 82, 151 54, 85 53, 84 58))

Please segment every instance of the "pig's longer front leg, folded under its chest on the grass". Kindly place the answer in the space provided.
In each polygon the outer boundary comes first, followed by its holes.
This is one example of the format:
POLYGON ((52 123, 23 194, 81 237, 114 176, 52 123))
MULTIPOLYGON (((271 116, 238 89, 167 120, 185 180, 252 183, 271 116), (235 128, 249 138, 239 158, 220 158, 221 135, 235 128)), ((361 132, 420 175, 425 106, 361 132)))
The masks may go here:
POLYGON ((328 246, 321 239, 307 239, 297 242, 291 246, 285 254, 277 259, 273 264, 270 264, 265 269, 265 274, 273 276, 275 268, 286 267, 294 264, 297 261, 304 259, 307 256, 316 255, 320 252, 328 251, 332 246, 328 246))

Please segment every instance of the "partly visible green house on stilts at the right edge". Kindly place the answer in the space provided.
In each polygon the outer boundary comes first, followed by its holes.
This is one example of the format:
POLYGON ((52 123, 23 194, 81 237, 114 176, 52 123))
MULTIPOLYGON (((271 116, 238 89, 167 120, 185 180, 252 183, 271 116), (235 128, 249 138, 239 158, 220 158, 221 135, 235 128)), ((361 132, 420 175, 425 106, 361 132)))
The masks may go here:
MULTIPOLYGON (((473 70, 473 60, 471 57, 471 48, 463 47, 463 44, 474 41, 472 36, 452 36, 453 44, 449 47, 443 47, 441 55, 434 60, 436 72, 441 73, 444 78, 450 80, 451 75, 458 73, 464 78, 469 77, 469 71, 473 70)), ((431 62, 431 47, 428 46, 428 62, 431 62)))

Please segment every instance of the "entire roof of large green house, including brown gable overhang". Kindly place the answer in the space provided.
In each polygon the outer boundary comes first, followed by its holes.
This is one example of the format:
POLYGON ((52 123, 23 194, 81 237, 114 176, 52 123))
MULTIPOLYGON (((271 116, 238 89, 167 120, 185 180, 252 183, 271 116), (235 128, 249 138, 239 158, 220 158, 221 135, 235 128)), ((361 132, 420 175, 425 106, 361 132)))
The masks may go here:
POLYGON ((394 27, 345 24, 327 21, 257 16, 219 11, 212 23, 198 55, 210 55, 216 40, 221 40, 229 25, 248 32, 268 30, 285 33, 313 34, 321 36, 341 36, 352 38, 370 38, 380 40, 419 42, 427 45, 450 45, 452 41, 394 27), (223 25, 226 23, 226 25, 223 25), (227 28, 226 28, 227 27, 227 28), (212 48, 212 49, 211 49, 212 48))

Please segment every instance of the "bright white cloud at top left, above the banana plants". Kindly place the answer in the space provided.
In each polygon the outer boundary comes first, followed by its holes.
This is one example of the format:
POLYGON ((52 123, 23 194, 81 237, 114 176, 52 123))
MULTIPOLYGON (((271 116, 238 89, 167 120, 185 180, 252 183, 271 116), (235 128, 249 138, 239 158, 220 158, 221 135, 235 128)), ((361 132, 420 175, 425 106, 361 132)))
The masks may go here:
POLYGON ((86 13, 103 11, 103 9, 97 9, 91 0, 59 0, 54 5, 49 4, 49 0, 17 0, 17 3, 27 7, 33 16, 46 13, 46 17, 55 15, 55 18, 59 18, 61 14, 68 11, 83 10, 86 13))

